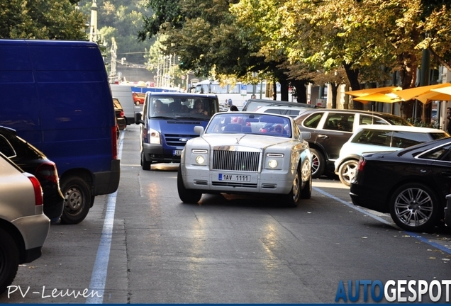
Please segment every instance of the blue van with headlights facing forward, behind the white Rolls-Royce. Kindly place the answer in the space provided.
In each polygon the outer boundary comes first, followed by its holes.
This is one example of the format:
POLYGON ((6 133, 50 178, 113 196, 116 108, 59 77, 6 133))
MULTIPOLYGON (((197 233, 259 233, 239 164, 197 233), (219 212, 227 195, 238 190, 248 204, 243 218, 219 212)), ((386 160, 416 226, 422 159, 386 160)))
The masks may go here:
POLYGON ((147 91, 143 112, 135 113, 143 170, 150 170, 152 163, 179 163, 186 142, 199 136, 194 127, 206 128, 218 111, 216 95, 147 91))

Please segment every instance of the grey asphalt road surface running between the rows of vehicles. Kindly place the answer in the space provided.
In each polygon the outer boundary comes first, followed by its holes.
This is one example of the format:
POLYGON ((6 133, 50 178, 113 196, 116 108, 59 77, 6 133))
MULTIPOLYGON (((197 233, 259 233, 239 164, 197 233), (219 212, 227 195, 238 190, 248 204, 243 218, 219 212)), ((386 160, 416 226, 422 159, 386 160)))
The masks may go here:
POLYGON ((118 191, 79 225, 52 225, 43 256, 19 267, 0 303, 335 303, 348 280, 451 278, 450 232, 403 232, 355 208, 338 180, 314 180, 297 208, 267 196, 183 204, 177 165, 140 168, 138 132, 121 132, 118 191))

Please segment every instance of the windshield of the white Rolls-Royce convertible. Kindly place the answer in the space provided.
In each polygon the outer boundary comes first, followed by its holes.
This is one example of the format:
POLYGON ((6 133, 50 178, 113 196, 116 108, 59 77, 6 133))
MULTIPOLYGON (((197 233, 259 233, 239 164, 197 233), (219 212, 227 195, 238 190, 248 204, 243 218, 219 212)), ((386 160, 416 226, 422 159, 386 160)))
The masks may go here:
POLYGON ((252 113, 221 113, 211 118, 206 133, 241 133, 291 137, 289 118, 277 115, 257 115, 252 113))

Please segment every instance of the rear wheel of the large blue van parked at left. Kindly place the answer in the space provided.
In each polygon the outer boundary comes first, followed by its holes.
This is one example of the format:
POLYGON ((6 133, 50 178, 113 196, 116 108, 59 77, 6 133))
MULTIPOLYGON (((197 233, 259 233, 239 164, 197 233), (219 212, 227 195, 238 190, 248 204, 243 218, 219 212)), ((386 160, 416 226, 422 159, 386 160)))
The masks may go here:
POLYGON ((78 224, 88 215, 91 206, 91 191, 88 184, 78 176, 62 179, 61 192, 65 197, 62 224, 78 224))

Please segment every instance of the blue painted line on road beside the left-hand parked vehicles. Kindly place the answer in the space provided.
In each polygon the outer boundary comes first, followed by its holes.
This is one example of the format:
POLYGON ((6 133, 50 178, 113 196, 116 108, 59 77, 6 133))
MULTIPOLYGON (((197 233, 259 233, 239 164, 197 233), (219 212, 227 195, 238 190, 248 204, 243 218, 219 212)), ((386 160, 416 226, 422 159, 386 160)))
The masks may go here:
MULTIPOLYGON (((118 159, 122 157, 123 136, 121 132, 118 148, 118 159)), ((91 273, 91 282, 89 283, 89 292, 96 294, 89 295, 85 304, 102 304, 104 302, 104 292, 106 283, 106 274, 108 272, 108 261, 110 259, 111 238, 113 236, 114 212, 116 210, 116 197, 118 191, 108 195, 106 202, 106 213, 104 228, 100 237, 99 248, 97 249, 96 261, 91 273)))

